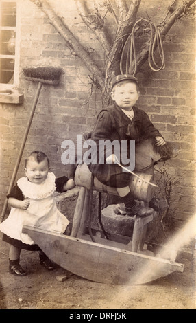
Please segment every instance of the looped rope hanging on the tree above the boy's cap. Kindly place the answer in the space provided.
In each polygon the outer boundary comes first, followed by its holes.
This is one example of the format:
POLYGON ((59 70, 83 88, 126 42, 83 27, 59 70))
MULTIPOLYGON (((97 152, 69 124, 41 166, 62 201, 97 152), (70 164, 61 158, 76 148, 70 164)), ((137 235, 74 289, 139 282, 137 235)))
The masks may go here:
POLYGON ((136 65, 136 46, 135 46, 134 33, 136 31, 136 25, 138 25, 140 21, 146 21, 150 25, 150 43, 149 43, 149 56, 148 56, 149 67, 153 71, 160 71, 161 69, 164 69, 164 50, 162 47, 162 39, 161 39, 159 28, 151 21, 148 21, 146 19, 139 19, 134 24, 132 33, 128 36, 127 41, 125 42, 125 45, 123 47, 123 52, 120 60, 121 74, 130 74, 132 76, 136 74, 137 65, 136 65), (156 64, 156 61, 154 59, 154 52, 155 52, 156 46, 158 48, 158 54, 161 60, 160 67, 156 64), (125 49, 127 49, 127 54, 125 53, 125 49), (126 60, 125 71, 123 71, 124 60, 126 60), (134 62, 134 69, 132 67, 133 62, 134 62))

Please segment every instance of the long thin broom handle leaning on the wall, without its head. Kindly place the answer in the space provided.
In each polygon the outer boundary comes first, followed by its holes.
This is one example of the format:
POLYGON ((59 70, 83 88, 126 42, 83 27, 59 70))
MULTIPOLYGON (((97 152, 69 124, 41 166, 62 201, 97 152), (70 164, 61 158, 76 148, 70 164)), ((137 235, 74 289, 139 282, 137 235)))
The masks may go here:
MULTIPOLYGON (((24 151, 24 148, 25 148, 25 144, 26 144, 26 141, 27 141, 27 136, 29 134, 29 129, 30 129, 30 126, 32 124, 32 120, 34 118, 34 112, 36 110, 36 105, 38 103, 38 98, 39 98, 39 95, 40 95, 40 91, 42 89, 42 83, 41 82, 38 82, 38 89, 36 91, 36 96, 34 98, 34 104, 33 104, 33 107, 32 107, 32 112, 30 114, 30 118, 29 118, 29 122, 27 124, 27 128, 25 130, 25 135, 23 137, 23 142, 21 144, 21 149, 19 151, 19 156, 18 156, 18 159, 16 161, 16 165, 14 167, 14 171, 13 171, 13 174, 12 174, 12 179, 10 181, 10 186, 8 188, 8 194, 10 194, 11 190, 12 190, 12 186, 14 185, 14 181, 16 179, 16 175, 17 175, 17 172, 19 170, 19 165, 20 165, 20 162, 21 162, 21 157, 23 155, 23 151, 24 151)), ((7 210, 7 207, 8 207, 8 199, 6 198, 5 199, 5 203, 3 205, 3 211, 2 211, 2 214, 1 214, 1 217, 0 217, 0 223, 3 221, 4 217, 5 217, 5 212, 7 210)))

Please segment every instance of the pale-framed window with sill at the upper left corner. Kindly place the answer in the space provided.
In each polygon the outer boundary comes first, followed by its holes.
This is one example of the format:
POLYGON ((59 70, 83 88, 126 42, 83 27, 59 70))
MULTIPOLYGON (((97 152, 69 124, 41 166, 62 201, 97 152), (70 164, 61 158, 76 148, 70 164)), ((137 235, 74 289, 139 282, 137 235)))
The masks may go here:
POLYGON ((22 98, 16 90, 19 86, 18 7, 16 1, 0 2, 0 102, 20 103, 22 98))

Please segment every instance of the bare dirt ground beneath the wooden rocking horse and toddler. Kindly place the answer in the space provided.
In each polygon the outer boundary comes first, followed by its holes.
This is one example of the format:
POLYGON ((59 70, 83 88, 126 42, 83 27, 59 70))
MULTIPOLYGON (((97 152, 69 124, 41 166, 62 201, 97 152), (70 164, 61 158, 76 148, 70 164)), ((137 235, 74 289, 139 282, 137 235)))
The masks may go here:
POLYGON ((58 266, 46 271, 38 252, 25 250, 21 265, 28 274, 16 277, 8 272, 8 252, 1 241, 0 309, 196 309, 194 259, 186 254, 180 258, 183 273, 145 285, 121 286, 91 282, 58 266), (59 276, 66 280, 59 281, 59 276))

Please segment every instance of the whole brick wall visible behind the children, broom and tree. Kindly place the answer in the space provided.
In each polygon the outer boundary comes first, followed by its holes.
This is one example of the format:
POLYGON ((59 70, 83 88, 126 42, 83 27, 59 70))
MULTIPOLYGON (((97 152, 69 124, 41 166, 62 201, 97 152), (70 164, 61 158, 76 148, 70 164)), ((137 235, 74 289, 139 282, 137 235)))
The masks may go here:
MULTIPOLYGON (((62 67, 64 73, 57 87, 49 85, 42 87, 17 178, 24 175, 24 159, 35 149, 47 153, 51 161, 51 170, 56 176, 67 175, 69 168, 61 162, 63 152, 61 144, 66 139, 75 141, 77 134, 92 129, 95 117, 101 109, 101 94, 93 87, 93 94, 90 96, 92 84, 88 70, 77 56, 71 54, 71 50, 49 24, 45 14, 31 1, 28 1, 28 5, 25 5, 27 1, 19 0, 19 2, 21 3, 20 70, 22 67, 52 65, 62 67)), ((104 55, 99 42, 81 23, 75 10, 75 1, 50 2, 55 6, 56 12, 64 16, 66 24, 71 26, 75 36, 84 45, 96 50, 92 55, 102 66, 104 55)), ((147 1, 145 5, 148 5, 147 1)), ((143 10, 145 12, 145 8, 143 10)), ((159 12, 154 12, 152 5, 148 10, 149 14, 154 14, 156 21, 164 14, 165 9, 161 7, 159 12)), ((174 157, 167 162, 169 174, 183 175, 180 183, 173 189, 174 202, 171 205, 173 214, 178 219, 186 219, 195 210, 194 30, 191 19, 177 22, 164 41, 165 69, 152 72, 145 64, 143 71, 138 74, 142 93, 138 107, 149 114, 151 121, 164 138, 173 144, 174 157)), ((21 73, 23 104, 0 104, 1 208, 19 154, 37 86, 37 83, 25 80, 21 73)))

